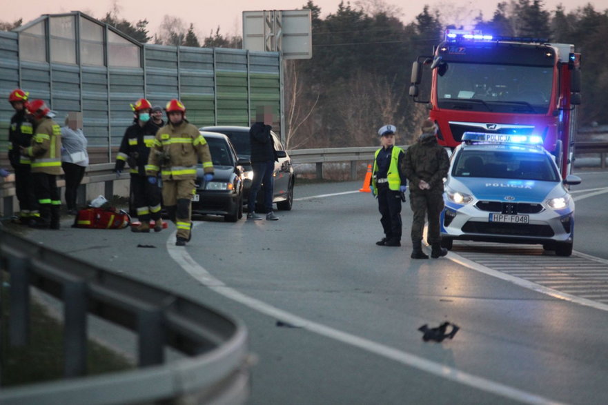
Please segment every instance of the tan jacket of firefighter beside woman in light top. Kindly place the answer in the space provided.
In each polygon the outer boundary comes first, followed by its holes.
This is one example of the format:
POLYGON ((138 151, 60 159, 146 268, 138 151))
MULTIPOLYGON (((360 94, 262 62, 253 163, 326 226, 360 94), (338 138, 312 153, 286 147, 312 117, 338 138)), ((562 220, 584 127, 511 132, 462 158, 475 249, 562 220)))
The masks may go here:
POLYGON ((61 128, 48 117, 35 121, 35 134, 27 150, 32 172, 61 175, 61 128))

